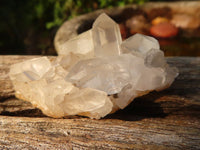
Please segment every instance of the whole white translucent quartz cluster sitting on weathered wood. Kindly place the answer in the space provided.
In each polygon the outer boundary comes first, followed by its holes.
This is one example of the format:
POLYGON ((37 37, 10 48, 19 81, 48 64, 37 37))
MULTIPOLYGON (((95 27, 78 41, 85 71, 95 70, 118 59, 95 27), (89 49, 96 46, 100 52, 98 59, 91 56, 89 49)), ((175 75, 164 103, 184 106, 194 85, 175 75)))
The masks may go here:
POLYGON ((122 42, 118 24, 101 14, 91 30, 64 43, 56 59, 14 64, 9 75, 16 96, 48 116, 99 119, 169 87, 178 71, 156 39, 135 34, 122 42))

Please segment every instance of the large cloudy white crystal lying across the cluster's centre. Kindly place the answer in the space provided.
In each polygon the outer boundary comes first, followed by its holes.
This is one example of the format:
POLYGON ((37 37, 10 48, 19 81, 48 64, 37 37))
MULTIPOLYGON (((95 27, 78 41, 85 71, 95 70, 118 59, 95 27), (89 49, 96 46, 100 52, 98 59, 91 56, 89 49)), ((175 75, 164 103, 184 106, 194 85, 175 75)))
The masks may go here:
POLYGON ((105 58, 83 60, 77 63, 66 77, 67 81, 78 87, 90 87, 116 94, 127 85, 132 76, 131 68, 142 59, 123 54, 105 58))

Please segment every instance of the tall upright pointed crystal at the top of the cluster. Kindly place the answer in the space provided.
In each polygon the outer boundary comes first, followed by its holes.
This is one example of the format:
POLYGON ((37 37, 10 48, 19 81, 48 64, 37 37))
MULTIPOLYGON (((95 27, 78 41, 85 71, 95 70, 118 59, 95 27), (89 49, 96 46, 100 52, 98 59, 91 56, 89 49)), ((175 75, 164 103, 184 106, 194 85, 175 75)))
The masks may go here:
POLYGON ((96 57, 120 54, 122 38, 119 26, 105 13, 95 20, 92 27, 92 36, 96 57))

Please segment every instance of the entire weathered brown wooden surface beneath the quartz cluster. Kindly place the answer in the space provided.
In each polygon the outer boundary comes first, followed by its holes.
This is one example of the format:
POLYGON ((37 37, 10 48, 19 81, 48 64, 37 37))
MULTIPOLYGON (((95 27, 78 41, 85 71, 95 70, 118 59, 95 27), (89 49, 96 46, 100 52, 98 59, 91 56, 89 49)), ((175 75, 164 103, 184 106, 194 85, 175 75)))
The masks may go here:
POLYGON ((200 58, 174 57, 172 86, 135 99, 101 120, 53 119, 14 97, 10 64, 0 56, 0 149, 200 149, 200 58))

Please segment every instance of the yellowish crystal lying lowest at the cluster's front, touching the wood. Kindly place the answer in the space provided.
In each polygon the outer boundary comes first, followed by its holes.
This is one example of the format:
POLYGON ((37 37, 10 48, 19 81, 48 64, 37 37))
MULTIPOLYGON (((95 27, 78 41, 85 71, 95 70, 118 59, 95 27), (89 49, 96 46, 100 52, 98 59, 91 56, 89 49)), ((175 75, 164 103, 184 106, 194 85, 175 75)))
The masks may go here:
POLYGON ((76 89, 65 94, 64 101, 60 104, 64 112, 69 115, 84 114, 85 116, 99 119, 112 110, 112 102, 107 93, 91 88, 76 89))

